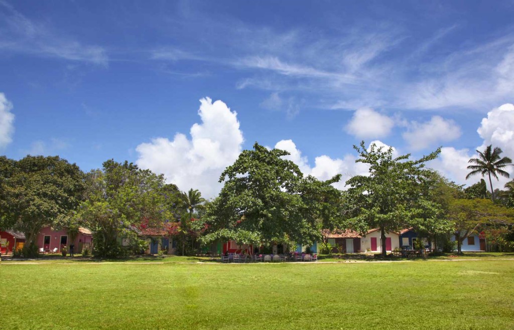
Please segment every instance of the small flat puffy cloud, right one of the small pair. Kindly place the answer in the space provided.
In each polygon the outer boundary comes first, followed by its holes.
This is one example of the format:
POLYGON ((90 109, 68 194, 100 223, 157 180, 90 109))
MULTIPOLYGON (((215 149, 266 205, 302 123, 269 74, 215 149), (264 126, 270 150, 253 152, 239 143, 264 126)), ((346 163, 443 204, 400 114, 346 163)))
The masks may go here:
POLYGON ((436 115, 425 123, 415 121, 409 123, 408 130, 402 136, 411 149, 421 150, 440 142, 453 141, 461 134, 461 128, 454 121, 436 115))

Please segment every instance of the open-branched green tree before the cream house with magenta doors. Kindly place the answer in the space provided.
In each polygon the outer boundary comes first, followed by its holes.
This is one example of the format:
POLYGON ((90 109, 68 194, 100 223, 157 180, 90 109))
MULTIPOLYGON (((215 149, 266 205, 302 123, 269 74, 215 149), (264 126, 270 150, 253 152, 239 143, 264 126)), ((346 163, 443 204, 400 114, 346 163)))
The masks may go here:
POLYGON ((364 141, 354 146, 360 158, 369 165, 369 176, 355 176, 346 181, 345 206, 348 221, 361 232, 379 228, 382 256, 386 256, 386 232, 408 225, 423 209, 419 207, 425 182, 432 171, 424 169, 427 161, 437 157, 440 149, 417 161, 410 154, 393 157, 393 148, 384 150, 372 144, 366 150, 364 141))

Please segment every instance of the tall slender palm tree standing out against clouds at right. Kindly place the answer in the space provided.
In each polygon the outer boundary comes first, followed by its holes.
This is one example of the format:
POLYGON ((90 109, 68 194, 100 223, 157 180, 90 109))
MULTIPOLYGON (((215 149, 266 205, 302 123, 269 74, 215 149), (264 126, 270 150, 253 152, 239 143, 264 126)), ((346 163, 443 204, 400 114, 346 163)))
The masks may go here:
POLYGON ((498 174, 502 177, 509 178, 509 173, 504 171, 503 168, 508 165, 512 165, 512 160, 508 157, 500 158, 500 154, 503 152, 499 147, 494 147, 492 149, 492 145, 488 145, 484 152, 476 150, 479 153, 479 158, 472 158, 468 161, 468 163, 474 164, 469 165, 468 169, 471 172, 468 173, 466 179, 474 176, 475 174, 482 174, 482 177, 485 174, 489 176, 489 184, 491 186, 491 199, 494 200, 494 190, 492 189, 492 180, 491 176, 498 180, 498 174))

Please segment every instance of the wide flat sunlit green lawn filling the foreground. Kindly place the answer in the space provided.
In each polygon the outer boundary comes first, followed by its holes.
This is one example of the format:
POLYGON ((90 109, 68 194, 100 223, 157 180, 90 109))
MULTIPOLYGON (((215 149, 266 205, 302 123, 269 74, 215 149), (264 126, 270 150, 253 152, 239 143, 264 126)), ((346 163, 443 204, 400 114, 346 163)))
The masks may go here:
POLYGON ((0 328, 510 329, 513 283, 514 259, 491 257, 310 264, 4 261, 0 328))

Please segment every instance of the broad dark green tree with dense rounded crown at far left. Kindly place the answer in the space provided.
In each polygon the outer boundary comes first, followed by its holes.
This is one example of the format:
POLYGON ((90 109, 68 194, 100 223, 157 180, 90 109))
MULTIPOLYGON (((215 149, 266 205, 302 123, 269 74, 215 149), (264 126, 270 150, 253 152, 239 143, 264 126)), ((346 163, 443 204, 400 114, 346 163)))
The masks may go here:
POLYGON ((3 218, 25 234, 23 255, 34 257, 40 230, 79 205, 84 174, 58 156, 27 156, 19 161, 3 159, 2 163, 2 175, 6 176, 2 179, 3 218))

